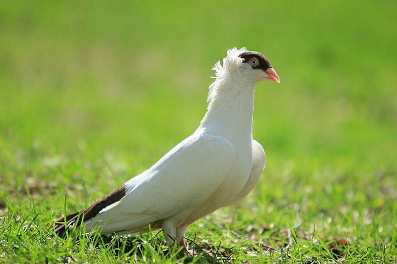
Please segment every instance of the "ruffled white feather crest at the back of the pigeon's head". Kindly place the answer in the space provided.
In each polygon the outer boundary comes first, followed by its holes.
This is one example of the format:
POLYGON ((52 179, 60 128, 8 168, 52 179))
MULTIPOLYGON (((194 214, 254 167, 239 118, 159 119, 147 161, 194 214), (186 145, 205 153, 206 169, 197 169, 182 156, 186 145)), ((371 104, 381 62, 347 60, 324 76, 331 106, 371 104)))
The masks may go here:
POLYGON ((220 60, 218 60, 215 66, 212 67, 215 71, 216 77, 214 78, 216 78, 216 80, 209 86, 208 102, 215 99, 219 92, 219 88, 223 87, 225 82, 237 72, 243 61, 242 58, 239 57, 239 54, 246 51, 247 49, 245 47, 241 49, 230 49, 227 51, 226 57, 223 58, 222 65, 220 64, 220 60))

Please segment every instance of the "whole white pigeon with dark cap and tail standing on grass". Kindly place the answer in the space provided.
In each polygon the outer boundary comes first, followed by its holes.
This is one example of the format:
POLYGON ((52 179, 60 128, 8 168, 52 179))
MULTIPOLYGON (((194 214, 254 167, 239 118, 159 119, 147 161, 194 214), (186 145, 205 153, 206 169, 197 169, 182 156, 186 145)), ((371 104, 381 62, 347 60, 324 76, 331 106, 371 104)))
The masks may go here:
POLYGON ((213 70, 208 111, 193 135, 89 208, 57 219, 58 235, 82 222, 86 232, 105 235, 162 228, 170 246, 185 247, 190 224, 254 188, 265 168, 264 149, 252 139, 254 90, 280 79, 262 53, 245 48, 227 51, 213 70))

